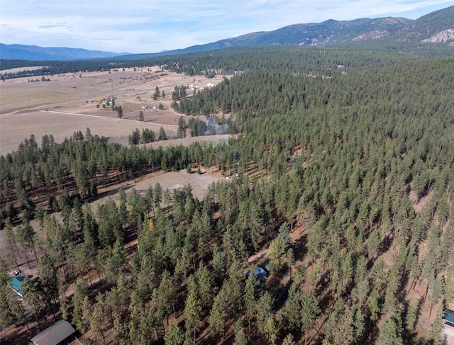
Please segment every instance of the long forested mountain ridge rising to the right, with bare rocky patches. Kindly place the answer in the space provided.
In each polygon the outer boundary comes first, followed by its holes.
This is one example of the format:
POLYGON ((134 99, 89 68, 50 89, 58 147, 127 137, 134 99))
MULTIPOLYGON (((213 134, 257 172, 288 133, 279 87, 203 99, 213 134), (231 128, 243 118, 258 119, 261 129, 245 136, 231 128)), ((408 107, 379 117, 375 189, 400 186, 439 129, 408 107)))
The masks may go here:
POLYGON ((128 55, 121 59, 145 59, 252 45, 332 46, 380 52, 402 51, 424 56, 453 56, 453 30, 454 6, 450 6, 416 20, 388 17, 336 21, 334 18, 323 23, 296 23, 277 30, 248 33, 206 45, 159 54, 128 55))

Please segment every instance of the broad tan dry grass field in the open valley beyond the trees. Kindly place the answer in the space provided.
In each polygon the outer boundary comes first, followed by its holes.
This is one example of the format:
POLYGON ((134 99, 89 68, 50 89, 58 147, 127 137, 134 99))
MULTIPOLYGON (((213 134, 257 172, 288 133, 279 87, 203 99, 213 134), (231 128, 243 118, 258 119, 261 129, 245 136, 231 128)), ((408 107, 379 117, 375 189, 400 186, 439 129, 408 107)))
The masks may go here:
POLYGON ((17 149, 31 134, 40 145, 43 135, 51 134, 56 142, 61 142, 77 130, 85 133, 87 128, 93 135, 122 144, 128 142, 128 135, 135 128, 158 132, 163 127, 167 137, 175 137, 179 115, 170 108, 175 86, 200 88, 209 83, 216 85, 221 78, 187 77, 160 72, 157 67, 143 67, 57 74, 50 81, 29 80, 26 77, 0 83, 0 154, 17 149), (156 86, 165 92, 165 97, 153 101, 156 86), (112 96, 116 105, 123 108, 123 119, 118 119, 110 107, 96 108, 99 99, 112 96), (142 109, 144 105, 153 108, 159 103, 164 110, 142 109), (140 111, 145 115, 144 122, 138 121, 140 111))

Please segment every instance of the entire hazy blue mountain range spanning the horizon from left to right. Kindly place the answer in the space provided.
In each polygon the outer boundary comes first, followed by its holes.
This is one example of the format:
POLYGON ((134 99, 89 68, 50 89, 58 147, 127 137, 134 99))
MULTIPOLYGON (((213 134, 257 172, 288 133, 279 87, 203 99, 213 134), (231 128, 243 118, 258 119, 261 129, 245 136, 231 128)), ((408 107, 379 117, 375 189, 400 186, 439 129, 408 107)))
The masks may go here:
POLYGON ((248 33, 214 43, 159 53, 126 55, 62 47, 0 44, 0 57, 43 61, 82 60, 123 55, 123 59, 129 60, 157 55, 203 52, 241 45, 342 46, 453 56, 454 6, 428 13, 416 20, 399 17, 360 18, 353 21, 330 19, 322 23, 294 24, 273 31, 248 33))

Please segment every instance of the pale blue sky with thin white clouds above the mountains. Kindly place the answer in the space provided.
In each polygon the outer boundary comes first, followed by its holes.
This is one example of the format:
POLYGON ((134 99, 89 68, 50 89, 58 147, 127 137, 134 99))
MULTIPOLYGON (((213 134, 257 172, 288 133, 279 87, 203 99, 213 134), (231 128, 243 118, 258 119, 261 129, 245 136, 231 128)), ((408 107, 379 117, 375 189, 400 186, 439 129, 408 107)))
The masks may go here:
POLYGON ((161 52, 328 19, 416 19, 448 0, 0 0, 0 43, 161 52))

